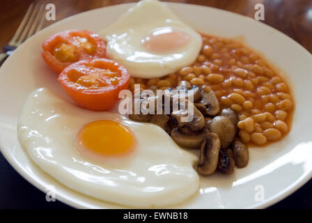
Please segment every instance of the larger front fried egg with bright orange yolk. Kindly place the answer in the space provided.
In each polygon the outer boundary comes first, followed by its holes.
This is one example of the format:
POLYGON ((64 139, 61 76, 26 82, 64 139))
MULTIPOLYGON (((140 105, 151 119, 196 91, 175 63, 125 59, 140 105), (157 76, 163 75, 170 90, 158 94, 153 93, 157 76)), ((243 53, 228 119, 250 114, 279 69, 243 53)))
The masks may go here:
POLYGON ((72 105, 48 89, 26 100, 18 135, 33 162, 76 192, 123 206, 171 206, 198 191, 196 156, 162 128, 72 105))

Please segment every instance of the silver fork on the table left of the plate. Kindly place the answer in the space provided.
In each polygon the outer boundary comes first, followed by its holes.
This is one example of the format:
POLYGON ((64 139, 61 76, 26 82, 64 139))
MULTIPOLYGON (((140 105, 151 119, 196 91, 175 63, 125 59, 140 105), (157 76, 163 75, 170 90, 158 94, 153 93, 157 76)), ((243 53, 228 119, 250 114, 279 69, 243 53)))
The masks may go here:
POLYGON ((18 26, 13 38, 8 45, 3 47, 3 53, 0 54, 0 63, 2 63, 10 54, 21 45, 27 38, 37 33, 45 22, 45 8, 43 5, 33 3, 29 6, 24 18, 18 26))

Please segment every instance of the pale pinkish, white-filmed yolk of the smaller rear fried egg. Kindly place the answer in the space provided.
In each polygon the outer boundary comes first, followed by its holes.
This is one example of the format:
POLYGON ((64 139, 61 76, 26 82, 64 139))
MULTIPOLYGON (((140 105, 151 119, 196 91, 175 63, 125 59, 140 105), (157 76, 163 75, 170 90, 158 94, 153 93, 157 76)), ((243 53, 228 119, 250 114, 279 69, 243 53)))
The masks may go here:
POLYGON ((189 43, 190 36, 187 33, 172 29, 171 27, 162 27, 154 29, 142 40, 143 46, 151 52, 165 53, 173 52, 189 43))

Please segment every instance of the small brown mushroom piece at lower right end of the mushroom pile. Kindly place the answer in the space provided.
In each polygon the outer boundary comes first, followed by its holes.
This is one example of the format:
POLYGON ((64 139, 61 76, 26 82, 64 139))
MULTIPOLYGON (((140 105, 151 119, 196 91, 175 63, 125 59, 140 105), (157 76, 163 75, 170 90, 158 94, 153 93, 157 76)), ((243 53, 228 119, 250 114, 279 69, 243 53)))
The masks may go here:
POLYGON ((240 139, 235 139, 232 143, 232 151, 235 159, 235 164, 237 167, 246 167, 249 162, 249 151, 248 146, 240 139))

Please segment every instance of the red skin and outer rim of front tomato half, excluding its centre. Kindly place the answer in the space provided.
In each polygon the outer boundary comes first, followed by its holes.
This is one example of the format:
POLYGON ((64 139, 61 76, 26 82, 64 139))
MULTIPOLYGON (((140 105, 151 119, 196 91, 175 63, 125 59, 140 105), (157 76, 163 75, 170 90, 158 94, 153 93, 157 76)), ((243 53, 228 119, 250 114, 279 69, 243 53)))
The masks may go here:
MULTIPOLYGON (((104 69, 103 68, 103 69, 104 69)), ((74 100, 77 105, 86 109, 95 111, 104 111, 113 107, 118 102, 118 93, 123 89, 127 89, 129 85, 130 74, 126 68, 118 64, 116 61, 109 59, 88 59, 72 63, 65 68, 59 75, 58 81, 61 83, 65 92, 74 100), (70 80, 68 72, 72 69, 81 68, 81 66, 90 66, 101 64, 105 69, 114 70, 120 73, 120 83, 116 86, 99 86, 96 88, 88 88, 81 86, 70 80)))

